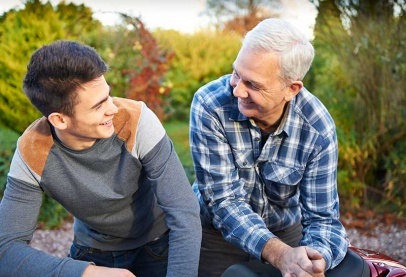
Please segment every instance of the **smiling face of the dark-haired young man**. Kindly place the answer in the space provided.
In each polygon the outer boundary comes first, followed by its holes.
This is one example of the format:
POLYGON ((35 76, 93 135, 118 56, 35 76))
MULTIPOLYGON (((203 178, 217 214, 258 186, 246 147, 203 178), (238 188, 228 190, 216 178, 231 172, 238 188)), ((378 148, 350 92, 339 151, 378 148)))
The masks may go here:
POLYGON ((67 127, 58 133, 58 137, 71 148, 84 149, 97 139, 113 135, 112 119, 118 108, 110 97, 110 87, 104 76, 84 84, 77 95, 79 103, 72 116, 65 116, 67 127))

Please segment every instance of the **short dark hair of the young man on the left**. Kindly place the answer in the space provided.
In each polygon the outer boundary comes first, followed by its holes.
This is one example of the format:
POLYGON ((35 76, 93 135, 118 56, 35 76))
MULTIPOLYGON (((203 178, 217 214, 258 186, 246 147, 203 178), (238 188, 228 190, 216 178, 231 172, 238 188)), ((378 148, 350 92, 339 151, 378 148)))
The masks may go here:
POLYGON ((107 70, 95 49, 74 41, 57 41, 31 56, 23 89, 44 116, 56 111, 72 115, 78 101, 76 90, 107 70))

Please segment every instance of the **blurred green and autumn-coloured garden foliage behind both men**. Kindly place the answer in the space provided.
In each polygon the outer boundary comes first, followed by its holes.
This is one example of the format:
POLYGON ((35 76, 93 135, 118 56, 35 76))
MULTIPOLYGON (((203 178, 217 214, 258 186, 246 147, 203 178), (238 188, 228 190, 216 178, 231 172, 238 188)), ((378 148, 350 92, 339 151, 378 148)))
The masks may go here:
MULTIPOLYGON (((145 28, 136 17, 104 26, 85 5, 39 0, 0 16, 0 199, 18 136, 40 114, 21 86, 32 52, 57 39, 93 46, 110 66, 114 96, 142 100, 174 142, 194 179, 188 120, 194 92, 231 72, 244 33, 278 17, 274 1, 207 0, 213 28, 193 34, 145 28), (236 12, 238 11, 238 12, 236 12), (242 12, 243 11, 243 12, 242 12), (224 17, 224 14, 227 17, 224 17)), ((341 209, 406 214, 406 32, 404 0, 314 1, 316 58, 305 86, 329 109, 338 131, 341 209)), ((40 223, 69 217, 44 198, 40 223)))

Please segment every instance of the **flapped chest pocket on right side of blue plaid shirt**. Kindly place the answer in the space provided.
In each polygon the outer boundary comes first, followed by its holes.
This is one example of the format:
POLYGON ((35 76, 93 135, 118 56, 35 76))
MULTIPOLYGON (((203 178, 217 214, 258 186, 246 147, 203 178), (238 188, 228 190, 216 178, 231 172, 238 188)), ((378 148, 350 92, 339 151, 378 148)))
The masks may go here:
POLYGON ((268 162, 262 170, 265 193, 268 200, 280 207, 299 204, 299 183, 303 170, 268 162))

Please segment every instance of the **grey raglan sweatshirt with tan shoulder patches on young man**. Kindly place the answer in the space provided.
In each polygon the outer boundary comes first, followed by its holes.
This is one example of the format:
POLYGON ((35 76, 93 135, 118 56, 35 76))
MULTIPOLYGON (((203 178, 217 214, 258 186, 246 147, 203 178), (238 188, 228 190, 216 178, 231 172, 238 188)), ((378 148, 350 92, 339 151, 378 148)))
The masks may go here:
POLYGON ((88 266, 28 245, 44 192, 74 216, 78 244, 129 250, 169 228, 167 276, 197 276, 199 207, 173 144, 144 103, 114 103, 114 135, 89 149, 64 146, 46 118, 19 138, 0 202, 0 276, 81 276, 88 266))

